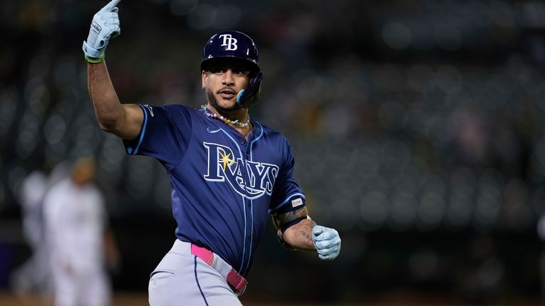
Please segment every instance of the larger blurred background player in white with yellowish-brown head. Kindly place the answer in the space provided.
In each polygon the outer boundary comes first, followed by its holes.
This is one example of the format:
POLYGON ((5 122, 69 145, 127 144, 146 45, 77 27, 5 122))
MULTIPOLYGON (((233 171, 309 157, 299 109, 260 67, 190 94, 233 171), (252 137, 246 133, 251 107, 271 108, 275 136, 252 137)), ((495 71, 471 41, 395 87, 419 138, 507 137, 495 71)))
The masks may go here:
POLYGON ((69 177, 44 200, 46 239, 55 306, 107 306, 111 286, 107 263, 117 261, 101 191, 93 183, 96 163, 79 158, 69 177))

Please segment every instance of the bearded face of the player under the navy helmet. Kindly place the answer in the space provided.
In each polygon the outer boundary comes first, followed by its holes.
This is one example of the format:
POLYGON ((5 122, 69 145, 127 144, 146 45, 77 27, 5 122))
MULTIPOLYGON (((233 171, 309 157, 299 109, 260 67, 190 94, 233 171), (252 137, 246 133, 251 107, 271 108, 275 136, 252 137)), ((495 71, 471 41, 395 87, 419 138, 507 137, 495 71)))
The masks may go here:
POLYGON ((217 61, 202 71, 202 86, 207 102, 219 111, 238 110, 236 95, 246 89, 250 80, 248 66, 236 61, 217 61))

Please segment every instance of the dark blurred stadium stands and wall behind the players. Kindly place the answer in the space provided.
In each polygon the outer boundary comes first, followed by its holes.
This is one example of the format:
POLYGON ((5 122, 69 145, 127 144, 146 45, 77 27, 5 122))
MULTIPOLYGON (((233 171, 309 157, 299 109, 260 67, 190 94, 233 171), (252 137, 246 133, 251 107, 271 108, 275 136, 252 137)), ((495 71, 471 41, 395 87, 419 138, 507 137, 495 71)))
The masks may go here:
MULTIPOLYGON (((0 4, 1 286, 25 256, 21 180, 82 153, 101 160, 125 243, 117 288, 146 290, 173 239, 163 168, 129 158, 98 128, 88 99, 81 42, 100 6, 0 4)), ((106 59, 122 102, 198 107, 207 37, 236 28, 258 42, 265 82, 251 115, 287 134, 311 216, 342 232, 343 252, 324 265, 282 250, 271 229, 250 297, 297 298, 296 289, 325 283, 337 291, 317 300, 539 298, 544 4, 139 0, 122 2, 120 18, 106 59), (278 271, 295 274, 297 288, 278 271)))

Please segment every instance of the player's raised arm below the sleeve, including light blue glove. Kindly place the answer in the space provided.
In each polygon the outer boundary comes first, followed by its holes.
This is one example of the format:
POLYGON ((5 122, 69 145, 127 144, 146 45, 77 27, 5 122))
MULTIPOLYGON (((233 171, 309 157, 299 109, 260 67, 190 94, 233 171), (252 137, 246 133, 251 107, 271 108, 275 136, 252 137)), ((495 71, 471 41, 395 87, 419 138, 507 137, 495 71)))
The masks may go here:
POLYGON ((104 52, 110 38, 121 33, 117 14, 120 1, 110 1, 93 16, 83 50, 88 61, 87 87, 98 124, 104 131, 132 140, 140 133, 144 114, 137 105, 121 104, 104 62, 104 52))

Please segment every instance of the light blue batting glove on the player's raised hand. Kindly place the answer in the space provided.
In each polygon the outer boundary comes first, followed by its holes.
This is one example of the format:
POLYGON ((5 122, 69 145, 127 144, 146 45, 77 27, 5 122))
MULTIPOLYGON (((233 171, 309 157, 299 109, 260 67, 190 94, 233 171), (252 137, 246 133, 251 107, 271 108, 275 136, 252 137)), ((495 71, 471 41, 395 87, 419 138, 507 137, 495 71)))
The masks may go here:
POLYGON ((89 30, 89 36, 83 46, 87 61, 92 63, 102 61, 110 38, 120 35, 120 21, 119 15, 117 15, 119 10, 116 7, 120 1, 110 1, 93 16, 91 30, 89 30))

